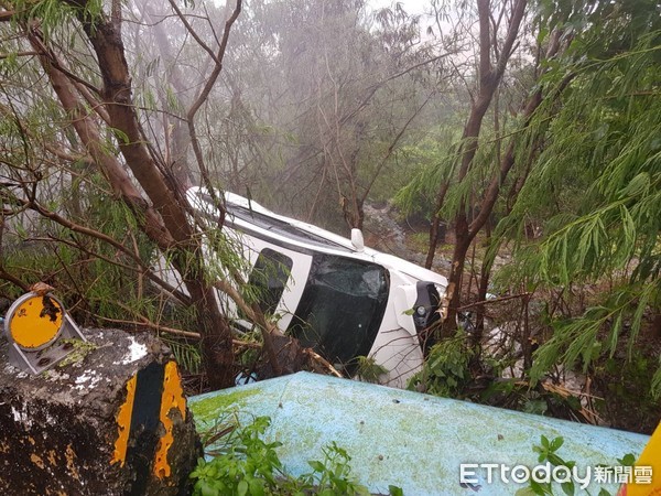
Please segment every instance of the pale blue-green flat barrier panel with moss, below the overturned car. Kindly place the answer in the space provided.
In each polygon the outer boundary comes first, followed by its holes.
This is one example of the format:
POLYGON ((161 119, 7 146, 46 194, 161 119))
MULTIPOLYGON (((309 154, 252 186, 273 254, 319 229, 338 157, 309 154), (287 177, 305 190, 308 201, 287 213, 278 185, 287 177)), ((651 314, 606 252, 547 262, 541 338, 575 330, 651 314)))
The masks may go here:
MULTIPOLYGON (((543 434, 563 436, 560 455, 582 468, 616 465, 636 456, 648 436, 548 417, 436 398, 353 380, 299 373, 278 379, 191 398, 197 429, 204 431, 228 412, 239 418, 268 416, 269 441, 293 475, 310 473, 333 441, 350 454, 353 473, 372 492, 393 484, 405 495, 513 495, 521 487, 478 471, 474 486, 459 484, 462 463, 539 465, 533 444, 543 434)), ((589 487, 590 493, 597 486, 589 487)), ((606 486, 611 493, 616 485, 606 486)), ((597 494, 598 488, 593 494, 597 494)))

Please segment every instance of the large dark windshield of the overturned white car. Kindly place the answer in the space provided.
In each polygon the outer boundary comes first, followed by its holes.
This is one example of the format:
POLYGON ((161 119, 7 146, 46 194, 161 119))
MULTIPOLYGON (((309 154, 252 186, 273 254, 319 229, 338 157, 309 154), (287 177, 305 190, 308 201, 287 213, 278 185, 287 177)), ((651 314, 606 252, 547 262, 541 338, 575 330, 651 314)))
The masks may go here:
POLYGON ((389 274, 376 263, 315 254, 288 332, 351 371, 369 353, 388 302, 389 274))

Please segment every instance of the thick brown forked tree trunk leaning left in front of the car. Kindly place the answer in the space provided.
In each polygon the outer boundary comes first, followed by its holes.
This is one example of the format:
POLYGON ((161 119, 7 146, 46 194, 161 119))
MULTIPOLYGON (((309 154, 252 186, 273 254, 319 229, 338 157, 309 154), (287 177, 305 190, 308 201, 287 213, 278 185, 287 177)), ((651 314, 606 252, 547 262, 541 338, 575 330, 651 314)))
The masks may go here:
POLYGON ((234 351, 231 330, 220 314, 214 288, 204 282, 203 250, 196 229, 186 216, 185 200, 169 187, 169 182, 144 145, 136 107, 131 99, 131 78, 119 28, 110 22, 94 25, 80 18, 95 52, 104 79, 101 91, 110 126, 121 132, 118 137, 120 151, 149 198, 155 212, 132 185, 130 177, 117 159, 104 151, 100 133, 95 120, 85 115, 76 95, 64 74, 54 68, 46 56, 42 64, 53 82, 53 87, 65 106, 72 111, 73 125, 90 155, 106 172, 112 187, 122 193, 122 198, 133 207, 141 208, 144 218, 141 226, 162 250, 173 250, 173 265, 182 274, 197 311, 197 323, 203 338, 204 365, 209 382, 215 388, 234 385, 234 351), (159 215, 160 214, 160 218, 159 215))

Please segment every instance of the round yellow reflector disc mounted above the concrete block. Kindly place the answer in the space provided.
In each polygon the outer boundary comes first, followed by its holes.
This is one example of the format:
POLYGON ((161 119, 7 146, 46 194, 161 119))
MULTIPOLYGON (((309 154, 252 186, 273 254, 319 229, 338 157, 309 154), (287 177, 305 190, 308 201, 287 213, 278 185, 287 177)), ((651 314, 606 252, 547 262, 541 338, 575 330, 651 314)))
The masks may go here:
POLYGON ((36 352, 53 344, 62 330, 62 304, 53 296, 28 293, 8 313, 13 342, 22 349, 36 352))

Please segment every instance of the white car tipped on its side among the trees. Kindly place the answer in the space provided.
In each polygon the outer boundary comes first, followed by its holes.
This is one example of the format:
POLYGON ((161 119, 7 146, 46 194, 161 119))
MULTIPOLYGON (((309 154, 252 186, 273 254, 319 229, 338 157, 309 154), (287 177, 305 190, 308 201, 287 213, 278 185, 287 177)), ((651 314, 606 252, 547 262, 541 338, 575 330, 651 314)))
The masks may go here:
MULTIPOLYGON (((203 217, 219 218, 206 188, 186 195, 203 217)), ((420 333, 438 319, 447 280, 366 248, 358 229, 347 239, 231 193, 225 203, 223 228, 245 248, 251 267, 246 276, 279 328, 348 374, 356 357, 370 357, 388 371, 382 384, 405 387, 422 365, 420 333)), ((236 308, 226 306, 240 326, 236 308)))

